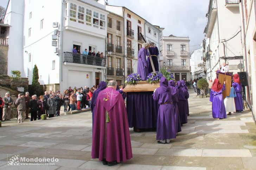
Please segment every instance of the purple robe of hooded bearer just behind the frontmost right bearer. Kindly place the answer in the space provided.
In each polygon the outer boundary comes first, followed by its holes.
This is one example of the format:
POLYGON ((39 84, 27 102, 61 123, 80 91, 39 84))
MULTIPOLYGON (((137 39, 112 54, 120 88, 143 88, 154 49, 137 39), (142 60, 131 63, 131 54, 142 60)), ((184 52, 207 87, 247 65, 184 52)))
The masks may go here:
POLYGON ((175 113, 175 120, 176 120, 176 131, 181 132, 181 124, 180 124, 180 115, 179 115, 179 108, 178 108, 178 98, 179 98, 179 90, 175 87, 175 82, 173 80, 168 81, 168 85, 172 90, 172 103, 175 113))

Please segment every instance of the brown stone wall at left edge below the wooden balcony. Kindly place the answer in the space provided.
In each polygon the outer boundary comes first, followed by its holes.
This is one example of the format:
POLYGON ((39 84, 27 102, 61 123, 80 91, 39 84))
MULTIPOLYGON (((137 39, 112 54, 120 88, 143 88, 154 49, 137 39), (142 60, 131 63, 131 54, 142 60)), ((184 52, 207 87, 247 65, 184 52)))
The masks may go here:
POLYGON ((7 74, 8 46, 0 45, 0 75, 7 74))

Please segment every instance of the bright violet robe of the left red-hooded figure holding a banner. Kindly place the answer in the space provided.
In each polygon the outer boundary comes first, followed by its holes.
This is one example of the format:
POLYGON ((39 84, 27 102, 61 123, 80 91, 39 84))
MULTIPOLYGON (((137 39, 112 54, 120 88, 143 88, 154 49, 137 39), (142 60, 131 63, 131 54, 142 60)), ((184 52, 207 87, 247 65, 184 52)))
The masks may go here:
MULTIPOLYGON (((222 90, 225 90, 225 84, 223 84, 222 90)), ((226 118, 226 109, 224 100, 222 97, 222 90, 219 92, 211 90, 210 102, 212 102, 212 117, 213 118, 226 118)))

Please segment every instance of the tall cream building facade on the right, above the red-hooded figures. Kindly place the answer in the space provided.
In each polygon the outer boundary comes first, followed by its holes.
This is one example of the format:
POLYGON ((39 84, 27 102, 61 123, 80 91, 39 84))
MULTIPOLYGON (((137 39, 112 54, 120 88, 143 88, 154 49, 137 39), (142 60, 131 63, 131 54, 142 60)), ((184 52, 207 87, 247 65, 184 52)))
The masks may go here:
POLYGON ((207 80, 216 78, 215 71, 220 69, 224 62, 233 74, 241 71, 237 66, 243 62, 238 0, 210 0, 206 17, 208 22, 204 30, 204 50, 207 80), (211 55, 209 51, 212 51, 211 55))

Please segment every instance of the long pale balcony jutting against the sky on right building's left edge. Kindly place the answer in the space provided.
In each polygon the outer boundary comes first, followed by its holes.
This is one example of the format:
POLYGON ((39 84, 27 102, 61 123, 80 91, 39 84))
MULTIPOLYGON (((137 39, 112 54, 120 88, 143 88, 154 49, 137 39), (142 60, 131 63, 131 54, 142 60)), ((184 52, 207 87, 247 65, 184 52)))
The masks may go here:
POLYGON ((215 25, 215 19, 217 16, 217 3, 211 0, 211 5, 209 7, 209 11, 206 14, 208 17, 207 26, 205 27, 204 33, 206 33, 206 37, 210 38, 213 30, 213 26, 215 25))

